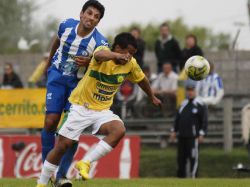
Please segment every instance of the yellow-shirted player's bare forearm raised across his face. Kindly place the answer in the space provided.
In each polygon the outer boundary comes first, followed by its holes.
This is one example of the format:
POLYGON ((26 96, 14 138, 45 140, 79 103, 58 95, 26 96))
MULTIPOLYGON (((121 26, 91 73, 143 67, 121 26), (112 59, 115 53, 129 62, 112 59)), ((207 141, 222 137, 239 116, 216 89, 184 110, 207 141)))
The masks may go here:
POLYGON ((132 58, 132 56, 127 54, 116 53, 110 50, 99 50, 94 53, 94 58, 97 62, 105 62, 109 60, 114 60, 120 62, 120 64, 126 64, 132 58))

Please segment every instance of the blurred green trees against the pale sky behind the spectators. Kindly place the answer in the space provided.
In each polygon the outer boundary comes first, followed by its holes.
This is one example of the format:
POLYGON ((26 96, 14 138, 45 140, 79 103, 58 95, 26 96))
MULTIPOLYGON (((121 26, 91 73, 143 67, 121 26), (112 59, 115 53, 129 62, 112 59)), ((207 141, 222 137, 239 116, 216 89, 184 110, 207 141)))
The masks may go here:
MULTIPOLYGON (((2 0, 0 1, 0 54, 19 53, 18 42, 24 38, 28 43, 32 40, 39 42, 32 45, 30 52, 44 52, 49 48, 51 38, 56 34, 59 21, 50 16, 45 21, 38 21, 34 16, 40 7, 32 0, 2 0)), ((175 38, 184 46, 185 36, 195 34, 199 41, 199 46, 204 50, 228 50, 232 43, 230 34, 214 33, 210 28, 204 26, 189 26, 182 17, 174 20, 167 20, 171 32, 175 38)), ((129 31, 132 27, 139 27, 142 37, 147 44, 148 50, 154 50, 154 43, 159 37, 160 24, 148 23, 142 25, 131 23, 130 25, 117 28, 115 33, 108 34, 109 41, 113 36, 121 31, 129 31)))

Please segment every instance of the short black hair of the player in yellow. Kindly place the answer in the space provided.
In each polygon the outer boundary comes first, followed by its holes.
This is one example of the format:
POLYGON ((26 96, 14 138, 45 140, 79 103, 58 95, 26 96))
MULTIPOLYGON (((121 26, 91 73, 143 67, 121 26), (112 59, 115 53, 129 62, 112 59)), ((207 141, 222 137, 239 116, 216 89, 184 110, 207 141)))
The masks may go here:
POLYGON ((128 32, 122 32, 116 35, 112 50, 115 48, 116 45, 119 45, 122 49, 127 48, 128 45, 132 45, 135 49, 137 49, 137 42, 135 37, 133 37, 132 34, 128 32))

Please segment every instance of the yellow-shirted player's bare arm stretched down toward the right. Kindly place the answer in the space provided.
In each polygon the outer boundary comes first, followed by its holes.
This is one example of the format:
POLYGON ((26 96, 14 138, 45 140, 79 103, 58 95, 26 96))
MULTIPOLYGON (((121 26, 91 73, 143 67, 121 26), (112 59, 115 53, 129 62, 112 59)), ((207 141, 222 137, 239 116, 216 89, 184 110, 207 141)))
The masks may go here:
POLYGON ((156 106, 160 106, 161 105, 161 100, 159 100, 153 93, 149 81, 146 77, 144 77, 142 79, 142 81, 140 81, 138 83, 138 85, 141 87, 141 89, 148 95, 148 97, 150 98, 151 102, 156 105, 156 106))

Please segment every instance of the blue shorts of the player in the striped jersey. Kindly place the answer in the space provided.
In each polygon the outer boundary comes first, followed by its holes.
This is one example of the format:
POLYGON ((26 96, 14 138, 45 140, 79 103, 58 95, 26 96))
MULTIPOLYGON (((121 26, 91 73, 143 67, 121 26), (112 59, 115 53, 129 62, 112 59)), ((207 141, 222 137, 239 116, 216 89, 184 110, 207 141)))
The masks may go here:
POLYGON ((63 75, 53 65, 48 69, 46 114, 68 111, 68 98, 78 83, 76 76, 63 75))

